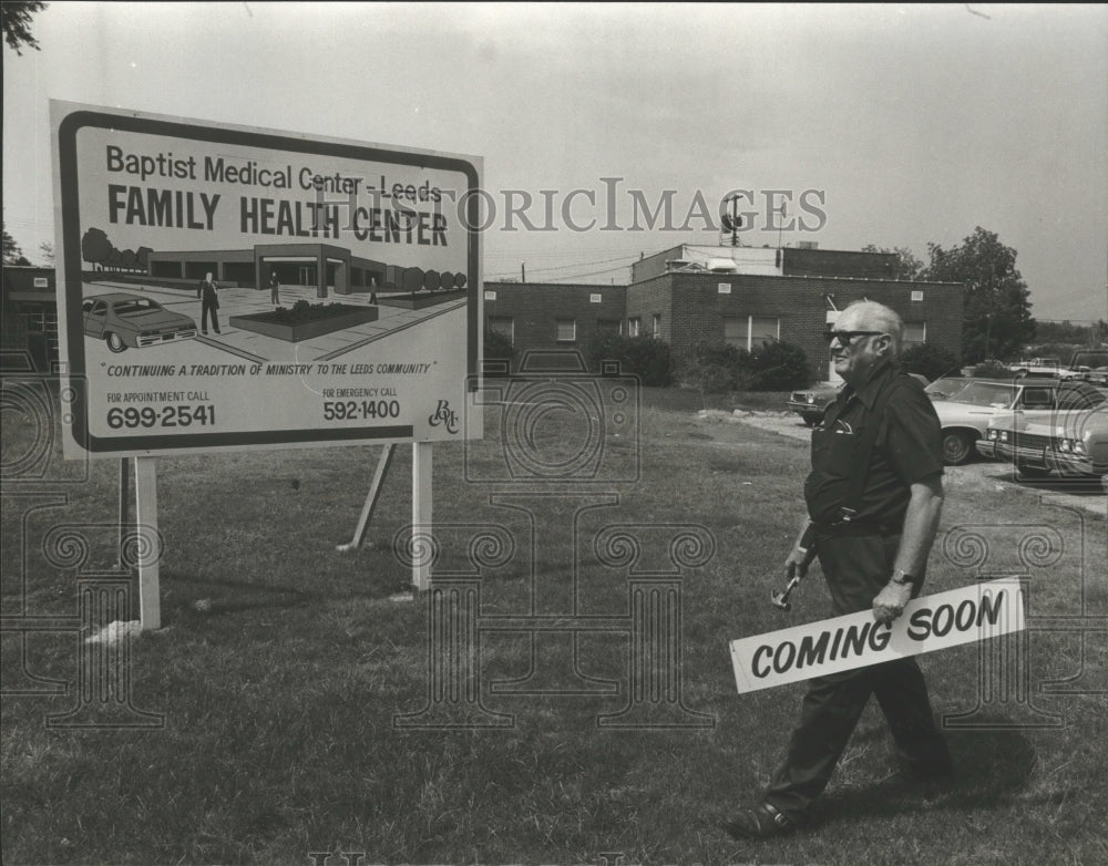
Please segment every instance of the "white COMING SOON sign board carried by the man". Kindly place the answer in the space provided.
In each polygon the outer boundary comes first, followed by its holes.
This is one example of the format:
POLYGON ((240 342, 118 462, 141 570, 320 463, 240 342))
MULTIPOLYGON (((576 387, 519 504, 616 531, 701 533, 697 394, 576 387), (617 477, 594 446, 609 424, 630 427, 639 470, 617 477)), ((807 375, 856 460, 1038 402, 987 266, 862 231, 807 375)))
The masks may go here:
POLYGON ((1023 629, 1019 581, 999 578, 917 598, 891 627, 865 610, 735 640, 731 666, 739 692, 751 692, 1023 629))

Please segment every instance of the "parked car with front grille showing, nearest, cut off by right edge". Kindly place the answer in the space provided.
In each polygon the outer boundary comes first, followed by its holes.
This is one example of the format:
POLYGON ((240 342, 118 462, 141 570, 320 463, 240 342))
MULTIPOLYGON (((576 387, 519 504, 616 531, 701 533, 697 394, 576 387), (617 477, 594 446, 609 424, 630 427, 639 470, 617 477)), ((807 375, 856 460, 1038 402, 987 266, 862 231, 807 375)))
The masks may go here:
POLYGON ((977 450, 1010 461, 1022 477, 1051 472, 1108 476, 1108 402, 1094 409, 1059 409, 1046 417, 1020 412, 995 417, 977 450))

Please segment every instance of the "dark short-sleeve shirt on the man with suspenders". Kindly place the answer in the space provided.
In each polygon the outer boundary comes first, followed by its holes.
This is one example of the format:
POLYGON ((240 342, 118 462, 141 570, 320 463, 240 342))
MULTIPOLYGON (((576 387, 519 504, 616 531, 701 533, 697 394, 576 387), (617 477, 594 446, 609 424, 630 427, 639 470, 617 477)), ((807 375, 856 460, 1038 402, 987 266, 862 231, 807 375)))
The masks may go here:
POLYGON ((911 485, 943 472, 942 431, 938 416, 920 383, 892 364, 873 371, 856 391, 847 385, 812 432, 812 471, 804 482, 809 516, 819 524, 842 517, 851 491, 851 476, 862 433, 878 424, 878 435, 865 472, 858 514, 865 525, 899 527, 911 498, 911 485), (880 417, 879 395, 892 388, 880 417))

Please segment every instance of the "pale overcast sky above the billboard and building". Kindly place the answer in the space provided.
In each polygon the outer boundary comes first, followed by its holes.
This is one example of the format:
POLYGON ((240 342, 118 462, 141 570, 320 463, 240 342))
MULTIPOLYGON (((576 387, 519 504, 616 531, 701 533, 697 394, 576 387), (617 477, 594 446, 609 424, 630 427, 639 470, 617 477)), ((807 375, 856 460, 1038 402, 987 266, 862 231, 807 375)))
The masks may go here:
POLYGON ((718 243, 689 212, 743 189, 745 245, 926 260, 979 225, 1037 318, 1108 318, 1102 4, 54 2, 33 32, 41 51, 3 48, 3 219, 32 260, 60 99, 481 156, 486 279, 624 282, 640 254, 718 243), (507 230, 503 190, 554 230, 507 230), (673 190, 669 230, 634 230, 634 190, 673 190))

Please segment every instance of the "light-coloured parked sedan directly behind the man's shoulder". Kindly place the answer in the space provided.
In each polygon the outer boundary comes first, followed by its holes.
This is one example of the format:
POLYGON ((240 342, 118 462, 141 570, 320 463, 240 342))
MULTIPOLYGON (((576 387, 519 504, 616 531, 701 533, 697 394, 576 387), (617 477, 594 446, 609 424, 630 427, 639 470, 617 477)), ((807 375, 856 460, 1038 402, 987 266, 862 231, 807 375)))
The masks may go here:
POLYGON ((934 403, 943 427, 943 460, 952 466, 968 461, 978 440, 985 439, 988 422, 1001 414, 1019 410, 1048 415, 1059 404, 1080 403, 1089 408, 1106 399, 1108 394, 1086 382, 1039 379, 972 381, 946 400, 934 403))

